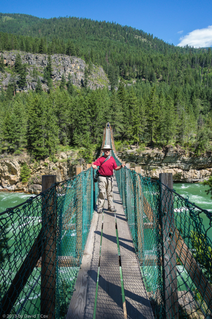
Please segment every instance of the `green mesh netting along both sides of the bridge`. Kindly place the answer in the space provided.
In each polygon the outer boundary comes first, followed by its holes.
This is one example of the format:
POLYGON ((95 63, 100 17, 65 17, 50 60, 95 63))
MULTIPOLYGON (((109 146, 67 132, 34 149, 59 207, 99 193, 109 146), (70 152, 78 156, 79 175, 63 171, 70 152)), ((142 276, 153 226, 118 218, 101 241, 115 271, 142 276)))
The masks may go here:
MULTIPOLYGON (((65 316, 97 199, 94 174, 0 213, 1 316, 65 316)), ((212 213, 126 167, 115 174, 155 317, 211 318, 212 213)))

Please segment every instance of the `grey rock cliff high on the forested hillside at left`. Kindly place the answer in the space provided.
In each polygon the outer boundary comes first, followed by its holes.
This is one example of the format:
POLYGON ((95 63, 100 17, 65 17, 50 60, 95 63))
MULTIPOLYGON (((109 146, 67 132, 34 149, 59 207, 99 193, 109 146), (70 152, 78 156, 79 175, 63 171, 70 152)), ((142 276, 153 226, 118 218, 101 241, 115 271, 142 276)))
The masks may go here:
MULTIPOLYGON (((37 83, 35 76, 33 76, 33 69, 38 71, 38 76, 42 81, 43 90, 47 90, 46 82, 43 80, 43 71, 47 65, 48 55, 46 54, 31 54, 23 53, 18 51, 4 52, 4 64, 7 67, 11 67, 15 63, 17 53, 20 54, 22 63, 27 64, 26 82, 27 85, 24 88, 19 88, 17 91, 25 91, 32 89, 34 90, 37 83)), ((66 80, 68 79, 68 74, 71 74, 72 83, 75 86, 82 86, 84 81, 84 70, 86 65, 85 61, 77 58, 75 56, 67 56, 63 54, 54 54, 51 56, 52 69, 53 69, 53 85, 56 86, 56 82, 61 80, 62 74, 64 73, 66 80)), ((10 81, 10 73, 0 72, 0 87, 5 90, 10 81)), ((96 89, 103 86, 108 86, 109 81, 104 73, 102 67, 97 67, 93 64, 93 70, 90 75, 88 75, 88 86, 91 89, 96 89)))

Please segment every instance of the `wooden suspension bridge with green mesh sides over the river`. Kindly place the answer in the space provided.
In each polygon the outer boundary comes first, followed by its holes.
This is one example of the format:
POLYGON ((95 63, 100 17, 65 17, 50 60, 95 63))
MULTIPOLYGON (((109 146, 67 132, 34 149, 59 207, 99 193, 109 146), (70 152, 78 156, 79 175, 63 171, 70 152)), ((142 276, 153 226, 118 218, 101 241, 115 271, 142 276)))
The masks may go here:
POLYGON ((212 213, 140 172, 115 171, 115 213, 91 164, 0 213, 1 318, 212 318, 212 213))

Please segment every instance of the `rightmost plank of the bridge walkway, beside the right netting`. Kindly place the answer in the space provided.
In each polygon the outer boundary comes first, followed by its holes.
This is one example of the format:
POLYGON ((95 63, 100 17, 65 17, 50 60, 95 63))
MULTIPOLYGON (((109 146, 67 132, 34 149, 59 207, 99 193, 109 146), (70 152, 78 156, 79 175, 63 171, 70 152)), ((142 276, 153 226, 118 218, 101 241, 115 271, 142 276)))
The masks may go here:
POLYGON ((117 220, 117 230, 121 255, 124 293, 127 318, 153 319, 152 307, 145 289, 140 267, 133 246, 130 230, 124 215, 117 182, 114 179, 114 202, 117 220))

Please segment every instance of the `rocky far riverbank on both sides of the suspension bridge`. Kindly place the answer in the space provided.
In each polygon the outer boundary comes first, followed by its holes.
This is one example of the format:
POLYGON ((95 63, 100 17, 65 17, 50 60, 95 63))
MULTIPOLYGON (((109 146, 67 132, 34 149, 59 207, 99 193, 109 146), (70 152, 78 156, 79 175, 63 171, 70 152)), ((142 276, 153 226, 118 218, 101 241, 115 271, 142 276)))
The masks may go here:
MULTIPOLYGON (((130 150, 117 152, 124 161, 141 167, 141 174, 153 179, 159 178, 159 173, 173 173, 173 180, 179 182, 200 182, 212 175, 212 152, 202 156, 186 153, 172 145, 163 150, 146 150, 137 153, 135 147, 130 150)), ((86 169, 84 159, 78 159, 75 151, 66 151, 56 154, 54 161, 51 158, 33 161, 27 153, 22 155, 1 155, 0 157, 0 190, 24 191, 30 194, 41 192, 41 176, 45 174, 57 175, 57 182, 61 182, 75 174, 76 163, 86 169), (26 163, 31 175, 27 183, 21 182, 21 166, 26 163)))

